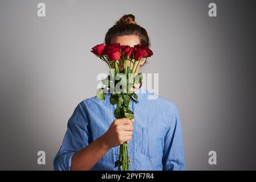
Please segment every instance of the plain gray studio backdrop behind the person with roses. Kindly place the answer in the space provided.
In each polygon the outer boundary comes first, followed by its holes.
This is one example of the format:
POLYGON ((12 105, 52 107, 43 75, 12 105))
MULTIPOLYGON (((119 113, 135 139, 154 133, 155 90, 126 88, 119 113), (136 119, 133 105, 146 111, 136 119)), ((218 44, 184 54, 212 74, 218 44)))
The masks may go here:
POLYGON ((91 52, 134 14, 159 94, 178 106, 190 170, 256 169, 255 1, 0 1, 0 169, 53 169, 75 106, 107 67, 91 52), (46 3, 46 17, 37 4, 46 3), (210 2, 217 17, 208 16, 210 2), (46 165, 37 164, 39 150, 46 165), (217 152, 217 165, 208 152, 217 152))

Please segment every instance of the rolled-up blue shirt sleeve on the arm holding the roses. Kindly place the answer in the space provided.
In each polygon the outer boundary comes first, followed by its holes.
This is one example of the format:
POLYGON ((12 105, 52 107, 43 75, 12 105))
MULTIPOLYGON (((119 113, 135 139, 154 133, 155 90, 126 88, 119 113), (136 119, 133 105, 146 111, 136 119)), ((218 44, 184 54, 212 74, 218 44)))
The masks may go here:
POLYGON ((70 171, 72 156, 75 152, 88 146, 90 140, 91 133, 86 108, 83 102, 80 102, 68 119, 62 146, 54 158, 54 170, 70 171))

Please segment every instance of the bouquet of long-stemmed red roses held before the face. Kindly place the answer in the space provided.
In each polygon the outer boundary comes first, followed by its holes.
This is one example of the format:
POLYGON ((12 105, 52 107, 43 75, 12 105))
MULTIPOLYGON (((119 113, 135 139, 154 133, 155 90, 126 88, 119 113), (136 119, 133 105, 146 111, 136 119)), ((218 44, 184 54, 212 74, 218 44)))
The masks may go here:
MULTIPOLYGON (((120 46, 120 43, 98 44, 91 50, 97 57, 103 60, 109 67, 109 75, 102 80, 103 88, 97 89, 97 98, 105 100, 105 93, 111 93, 109 102, 116 105, 114 115, 116 119, 134 117, 133 112, 129 109, 131 96, 137 99, 134 92, 136 84, 142 81, 142 74, 136 73, 137 68, 146 57, 153 55, 151 49, 141 44, 133 47, 120 46)), ((123 166, 123 171, 129 170, 128 143, 120 145, 119 158, 115 162, 115 167, 119 171, 123 166)))

